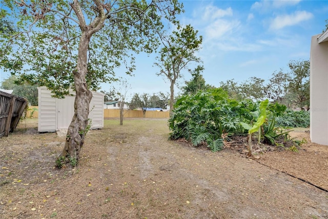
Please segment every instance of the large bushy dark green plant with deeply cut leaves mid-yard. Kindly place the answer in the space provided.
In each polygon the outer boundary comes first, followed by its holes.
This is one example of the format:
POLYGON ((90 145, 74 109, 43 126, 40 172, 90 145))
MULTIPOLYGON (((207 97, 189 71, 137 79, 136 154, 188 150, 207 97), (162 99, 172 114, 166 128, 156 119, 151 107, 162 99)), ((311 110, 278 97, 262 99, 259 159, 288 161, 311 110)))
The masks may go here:
POLYGON ((206 144, 212 151, 224 146, 223 133, 244 133, 240 121, 255 109, 250 100, 227 99, 222 89, 198 91, 177 100, 168 125, 171 139, 184 138, 193 146, 206 144))

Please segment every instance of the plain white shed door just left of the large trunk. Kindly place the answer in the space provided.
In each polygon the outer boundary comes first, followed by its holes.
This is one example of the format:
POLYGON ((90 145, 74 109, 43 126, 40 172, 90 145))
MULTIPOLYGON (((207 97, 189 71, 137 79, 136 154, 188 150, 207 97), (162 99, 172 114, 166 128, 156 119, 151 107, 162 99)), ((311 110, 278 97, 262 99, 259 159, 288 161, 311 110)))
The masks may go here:
POLYGON ((58 129, 67 129, 74 116, 75 97, 67 96, 65 99, 58 99, 58 129))

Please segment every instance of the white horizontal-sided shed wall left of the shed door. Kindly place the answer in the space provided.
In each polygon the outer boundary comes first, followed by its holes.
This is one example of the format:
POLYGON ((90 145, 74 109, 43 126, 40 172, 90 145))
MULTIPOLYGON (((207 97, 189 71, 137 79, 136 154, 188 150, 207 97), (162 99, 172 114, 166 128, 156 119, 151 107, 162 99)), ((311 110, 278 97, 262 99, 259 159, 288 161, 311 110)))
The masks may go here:
POLYGON ((38 132, 56 132, 56 101, 46 87, 38 87, 38 132))

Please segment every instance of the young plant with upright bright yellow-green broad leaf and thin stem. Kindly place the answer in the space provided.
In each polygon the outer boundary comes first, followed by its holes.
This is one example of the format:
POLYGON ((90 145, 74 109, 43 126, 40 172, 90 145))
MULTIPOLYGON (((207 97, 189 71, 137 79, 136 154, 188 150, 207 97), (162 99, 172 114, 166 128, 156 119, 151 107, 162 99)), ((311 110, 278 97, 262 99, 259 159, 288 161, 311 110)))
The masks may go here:
POLYGON ((254 121, 251 121, 250 124, 245 122, 240 122, 244 129, 248 130, 248 154, 252 156, 252 134, 258 132, 258 140, 261 138, 261 125, 263 125, 265 119, 267 118, 267 107, 269 104, 269 100, 266 99, 260 102, 260 105, 256 111, 251 112, 254 121), (252 125, 253 124, 253 125, 252 125))

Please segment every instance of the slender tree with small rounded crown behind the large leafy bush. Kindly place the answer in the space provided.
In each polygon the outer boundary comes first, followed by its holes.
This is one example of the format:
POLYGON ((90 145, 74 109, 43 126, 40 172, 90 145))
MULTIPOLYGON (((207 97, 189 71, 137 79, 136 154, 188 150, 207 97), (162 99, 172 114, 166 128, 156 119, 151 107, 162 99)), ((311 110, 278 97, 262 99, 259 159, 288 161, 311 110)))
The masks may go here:
POLYGON ((162 37, 163 48, 156 57, 154 64, 160 68, 157 75, 162 75, 170 81, 170 111, 173 110, 174 85, 176 80, 182 77, 182 71, 188 68, 190 62, 200 62, 196 56, 202 42, 202 36, 197 36, 191 25, 177 29, 171 35, 162 37))

